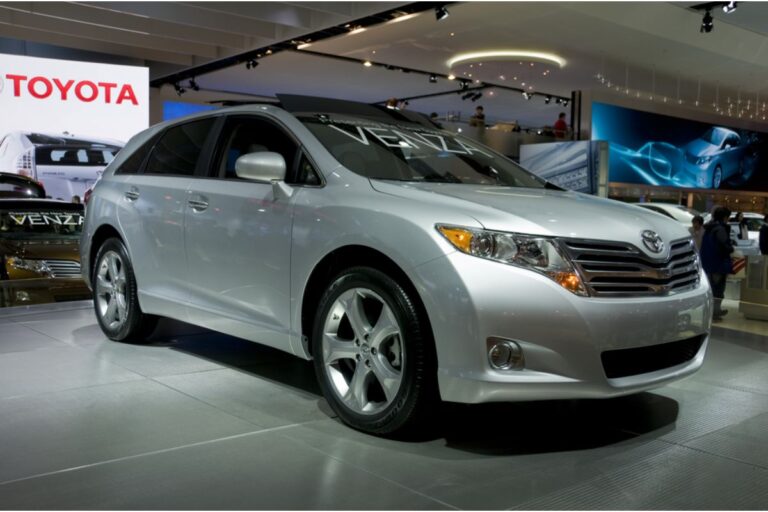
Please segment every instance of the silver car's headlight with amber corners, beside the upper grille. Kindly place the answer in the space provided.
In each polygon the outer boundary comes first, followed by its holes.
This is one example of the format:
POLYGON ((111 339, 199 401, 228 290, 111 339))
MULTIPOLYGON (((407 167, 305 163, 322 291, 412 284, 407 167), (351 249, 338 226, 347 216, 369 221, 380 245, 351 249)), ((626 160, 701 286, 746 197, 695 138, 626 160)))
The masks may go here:
POLYGON ((588 295, 571 262, 549 238, 442 224, 435 227, 463 253, 539 272, 576 295, 588 295))

